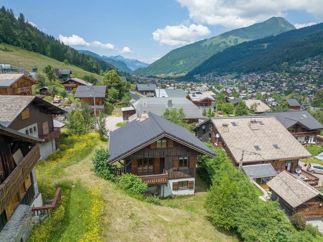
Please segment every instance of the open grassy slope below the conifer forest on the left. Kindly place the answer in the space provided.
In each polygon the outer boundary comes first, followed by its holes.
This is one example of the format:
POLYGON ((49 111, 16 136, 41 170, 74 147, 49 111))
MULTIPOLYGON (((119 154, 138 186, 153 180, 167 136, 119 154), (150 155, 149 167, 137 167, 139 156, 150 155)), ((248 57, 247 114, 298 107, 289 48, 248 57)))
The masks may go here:
POLYGON ((99 81, 102 79, 102 76, 85 71, 77 66, 65 65, 63 62, 47 56, 3 43, 0 44, 0 60, 5 63, 10 63, 12 66, 18 66, 19 63, 19 67, 23 67, 26 70, 31 70, 30 66, 37 66, 38 70, 42 71, 45 66, 51 65, 60 69, 70 69, 73 73, 72 76, 80 79, 85 75, 92 75, 95 78, 98 78, 99 81), (4 51, 5 47, 9 51, 4 51))

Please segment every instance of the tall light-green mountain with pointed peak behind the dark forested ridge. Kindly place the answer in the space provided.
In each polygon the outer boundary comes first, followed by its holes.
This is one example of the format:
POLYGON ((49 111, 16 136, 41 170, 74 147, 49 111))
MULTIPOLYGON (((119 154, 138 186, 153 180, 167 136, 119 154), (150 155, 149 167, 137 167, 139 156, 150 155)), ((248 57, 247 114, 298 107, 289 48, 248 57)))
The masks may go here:
POLYGON ((141 75, 186 74, 207 58, 227 47, 249 40, 275 36, 293 29, 295 27, 286 19, 272 17, 262 23, 234 29, 221 35, 174 49, 148 67, 137 69, 133 73, 141 75))

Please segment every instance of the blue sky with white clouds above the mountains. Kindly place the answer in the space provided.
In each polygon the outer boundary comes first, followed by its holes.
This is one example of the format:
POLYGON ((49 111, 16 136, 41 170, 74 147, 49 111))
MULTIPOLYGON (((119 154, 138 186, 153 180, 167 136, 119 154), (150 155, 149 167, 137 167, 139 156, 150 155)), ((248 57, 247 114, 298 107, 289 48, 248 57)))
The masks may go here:
POLYGON ((323 22, 323 0, 8 1, 65 44, 152 63, 174 48, 280 16, 299 27, 323 22))

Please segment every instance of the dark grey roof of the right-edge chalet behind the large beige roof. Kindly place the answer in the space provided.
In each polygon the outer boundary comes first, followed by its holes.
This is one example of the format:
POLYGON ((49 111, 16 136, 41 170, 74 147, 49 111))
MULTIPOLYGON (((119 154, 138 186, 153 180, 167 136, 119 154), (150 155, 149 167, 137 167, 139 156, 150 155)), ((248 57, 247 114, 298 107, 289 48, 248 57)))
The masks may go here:
POLYGON ((275 118, 282 124, 286 129, 299 123, 306 127, 308 130, 323 129, 323 125, 319 123, 309 112, 307 111, 290 111, 290 112, 267 112, 261 115, 275 116, 275 118), (306 117, 304 117, 305 115, 306 117))

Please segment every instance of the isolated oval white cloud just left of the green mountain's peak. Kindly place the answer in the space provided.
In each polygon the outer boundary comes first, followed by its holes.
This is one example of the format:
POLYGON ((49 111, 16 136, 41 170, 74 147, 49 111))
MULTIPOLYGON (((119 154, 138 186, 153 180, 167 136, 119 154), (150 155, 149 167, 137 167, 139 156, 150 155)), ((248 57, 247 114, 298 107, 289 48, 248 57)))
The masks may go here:
POLYGON ((181 24, 178 26, 167 25, 163 29, 157 29, 152 33, 152 38, 161 45, 183 46, 197 41, 201 36, 209 34, 211 34, 211 31, 206 26, 200 24, 185 26, 181 24))

